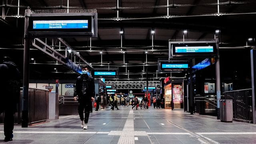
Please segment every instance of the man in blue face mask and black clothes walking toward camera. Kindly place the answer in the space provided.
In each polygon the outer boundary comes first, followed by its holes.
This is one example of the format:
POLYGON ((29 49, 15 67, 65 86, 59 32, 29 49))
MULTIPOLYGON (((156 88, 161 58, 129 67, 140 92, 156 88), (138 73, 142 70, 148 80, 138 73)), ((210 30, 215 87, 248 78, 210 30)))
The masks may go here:
POLYGON ((88 119, 90 110, 92 109, 92 102, 94 101, 95 88, 94 78, 90 76, 88 66, 82 67, 82 75, 76 79, 76 86, 74 90, 74 101, 78 100, 78 114, 82 121, 81 127, 84 130, 88 129, 88 119), (78 98, 78 99, 77 99, 78 98))

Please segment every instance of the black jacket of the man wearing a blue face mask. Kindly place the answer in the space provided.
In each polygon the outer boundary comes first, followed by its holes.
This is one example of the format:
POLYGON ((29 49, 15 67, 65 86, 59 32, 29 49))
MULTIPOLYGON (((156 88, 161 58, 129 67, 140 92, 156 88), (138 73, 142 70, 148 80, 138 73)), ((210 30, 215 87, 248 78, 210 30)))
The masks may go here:
POLYGON ((95 96, 94 78, 87 74, 82 74, 76 79, 74 97, 78 96, 78 101, 91 102, 91 97, 95 96))

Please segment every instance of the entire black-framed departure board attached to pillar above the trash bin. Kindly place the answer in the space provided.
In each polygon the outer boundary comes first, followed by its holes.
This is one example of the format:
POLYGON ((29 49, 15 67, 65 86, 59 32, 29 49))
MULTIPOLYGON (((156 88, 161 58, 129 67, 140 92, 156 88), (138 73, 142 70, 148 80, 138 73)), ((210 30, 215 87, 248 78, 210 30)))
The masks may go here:
POLYGON ((169 42, 169 58, 213 57, 215 54, 215 41, 169 42))

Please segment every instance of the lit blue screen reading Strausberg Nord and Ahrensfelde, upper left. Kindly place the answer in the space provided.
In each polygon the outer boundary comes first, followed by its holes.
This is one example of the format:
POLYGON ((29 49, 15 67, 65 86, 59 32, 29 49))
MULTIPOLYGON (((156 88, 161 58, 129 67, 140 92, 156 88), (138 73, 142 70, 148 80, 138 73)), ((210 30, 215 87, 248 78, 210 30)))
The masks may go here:
POLYGON ((33 29, 88 28, 88 20, 33 20, 33 29))

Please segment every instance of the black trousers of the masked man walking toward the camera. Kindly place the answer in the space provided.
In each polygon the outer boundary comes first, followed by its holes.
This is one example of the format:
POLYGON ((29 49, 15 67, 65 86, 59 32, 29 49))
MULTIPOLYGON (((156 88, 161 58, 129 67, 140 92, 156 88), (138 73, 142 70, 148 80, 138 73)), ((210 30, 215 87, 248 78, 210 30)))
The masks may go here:
POLYGON ((84 123, 88 123, 88 119, 90 116, 90 110, 92 108, 92 102, 79 102, 78 103, 78 114, 80 116, 80 120, 84 120, 84 123))

